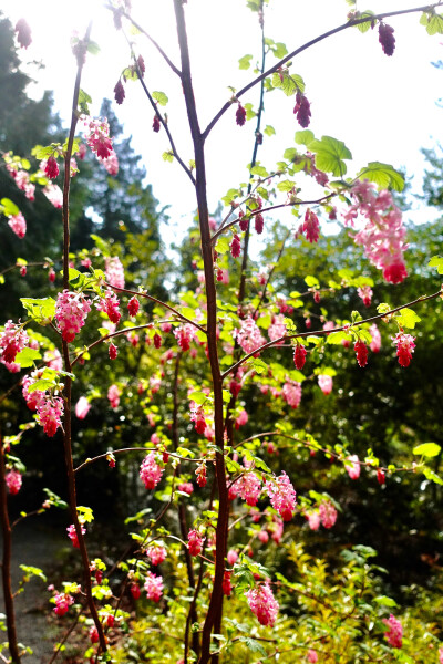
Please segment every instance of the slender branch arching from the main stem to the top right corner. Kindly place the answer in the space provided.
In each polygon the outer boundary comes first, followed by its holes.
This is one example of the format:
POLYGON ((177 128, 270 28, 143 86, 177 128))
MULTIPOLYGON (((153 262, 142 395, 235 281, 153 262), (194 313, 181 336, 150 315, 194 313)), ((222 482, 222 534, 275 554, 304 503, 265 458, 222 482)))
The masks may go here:
MULTIPOLYGON (((320 34, 319 37, 316 37, 315 39, 310 40, 309 42, 306 42, 302 46, 299 46, 298 49, 296 49, 295 51, 292 51, 291 53, 286 55, 286 58, 282 58, 279 62, 277 62, 277 64, 275 64, 274 66, 268 69, 266 72, 264 72, 262 74, 259 74, 250 83, 245 85, 245 87, 243 87, 239 92, 236 92, 236 97, 239 98, 246 92, 248 92, 248 90, 250 90, 251 87, 257 85, 257 83, 260 83, 260 81, 267 79, 270 74, 274 74, 274 72, 279 70, 284 64, 286 64, 287 62, 292 60, 292 58, 295 58, 296 55, 299 55, 300 53, 302 53, 307 49, 310 49, 315 44, 323 41, 328 37, 332 37, 333 34, 337 34, 338 32, 342 32, 343 30, 347 30, 348 28, 353 28, 354 25, 360 25, 361 23, 368 23, 371 20, 380 21, 380 20, 387 19, 389 17, 398 17, 398 15, 403 15, 403 14, 409 14, 409 13, 414 13, 414 12, 416 13, 419 11, 432 11, 435 7, 439 7, 439 4, 441 4, 441 2, 435 2, 433 4, 425 4, 423 7, 415 7, 413 9, 402 9, 399 11, 389 11, 385 13, 374 14, 373 17, 370 17, 370 18, 365 17, 364 19, 353 19, 351 21, 348 21, 347 23, 343 23, 342 25, 339 25, 338 28, 328 30, 328 32, 323 32, 323 34, 320 34)), ((226 111, 228 108, 230 108, 231 104, 233 104, 231 101, 226 102, 226 104, 218 111, 218 113, 209 122, 208 126, 203 132, 203 138, 205 141, 206 141, 209 132, 213 129, 214 125, 220 120, 220 117, 226 113, 226 111)))

